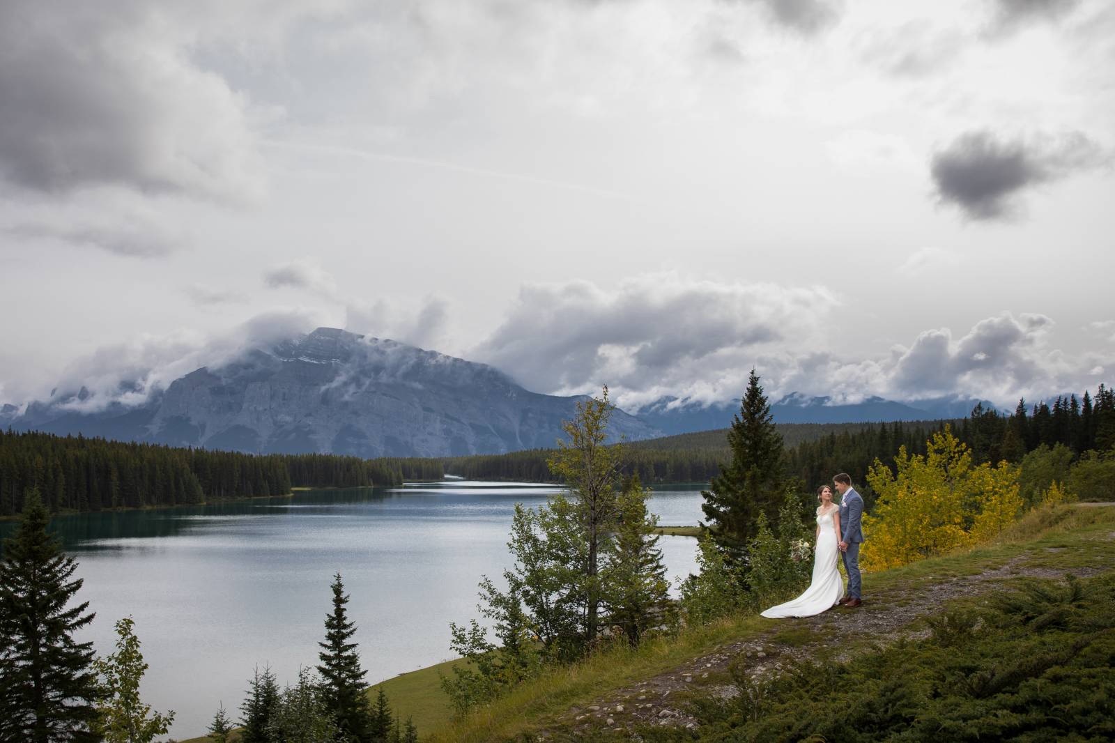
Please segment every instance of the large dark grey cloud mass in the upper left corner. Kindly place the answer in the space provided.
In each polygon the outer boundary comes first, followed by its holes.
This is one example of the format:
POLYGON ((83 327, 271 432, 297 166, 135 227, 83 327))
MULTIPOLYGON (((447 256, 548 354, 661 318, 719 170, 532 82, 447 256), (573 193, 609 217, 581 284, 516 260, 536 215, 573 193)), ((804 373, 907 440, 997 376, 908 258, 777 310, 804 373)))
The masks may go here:
POLYGON ((190 42, 154 3, 0 3, 0 176, 256 197, 245 103, 190 61, 190 42))

